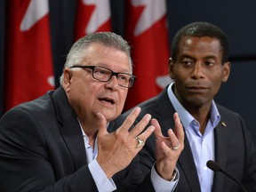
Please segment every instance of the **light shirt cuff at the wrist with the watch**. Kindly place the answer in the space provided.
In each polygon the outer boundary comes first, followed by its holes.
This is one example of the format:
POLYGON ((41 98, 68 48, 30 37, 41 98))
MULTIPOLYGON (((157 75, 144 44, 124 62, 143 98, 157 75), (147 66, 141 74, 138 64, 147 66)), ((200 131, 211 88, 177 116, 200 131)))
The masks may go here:
POLYGON ((164 180, 156 172, 155 164, 152 166, 150 176, 151 176, 151 180, 152 180, 152 183, 153 183, 153 186, 154 186, 156 192, 172 192, 172 191, 174 191, 174 189, 176 188, 176 186, 180 180, 179 170, 175 167, 175 170, 177 172, 177 176, 176 176, 175 180, 173 180, 173 181, 164 180))

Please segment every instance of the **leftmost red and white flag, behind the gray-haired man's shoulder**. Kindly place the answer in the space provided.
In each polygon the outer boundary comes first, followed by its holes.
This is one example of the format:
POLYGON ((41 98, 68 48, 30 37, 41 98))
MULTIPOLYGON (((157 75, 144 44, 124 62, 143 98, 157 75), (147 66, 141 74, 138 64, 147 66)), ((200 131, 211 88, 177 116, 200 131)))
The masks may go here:
POLYGON ((48 0, 8 2, 5 110, 54 89, 48 0))

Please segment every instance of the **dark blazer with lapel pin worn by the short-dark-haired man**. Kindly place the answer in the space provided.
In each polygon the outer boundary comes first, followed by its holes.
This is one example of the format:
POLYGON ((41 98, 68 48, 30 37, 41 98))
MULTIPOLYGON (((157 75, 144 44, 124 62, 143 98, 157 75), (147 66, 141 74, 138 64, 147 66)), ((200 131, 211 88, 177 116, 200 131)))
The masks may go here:
MULTIPOLYGON (((167 88, 167 87, 166 87, 167 88)), ((167 89, 159 93, 155 98, 141 103, 142 109, 138 121, 149 113, 155 117, 161 125, 162 132, 167 136, 167 131, 174 127, 173 113, 175 109, 167 95, 167 89)), ((215 161, 232 175, 241 181, 248 192, 256 191, 256 149, 251 136, 244 126, 243 119, 238 114, 227 108, 217 106, 220 112, 220 124, 214 129, 215 137, 215 161), (225 124, 221 124, 221 123, 225 124), (226 125, 226 126, 225 126, 226 125)), ((127 116, 130 111, 124 113, 127 116)), ((152 164, 156 161, 155 135, 152 134, 146 141, 146 145, 140 151, 140 161, 143 172, 148 173, 152 164)), ((196 172, 196 165, 185 135, 185 148, 180 154, 177 164, 180 171, 180 181, 177 191, 199 192, 200 185, 196 172)), ((236 184, 221 173, 215 173, 212 192, 240 191, 236 184)))

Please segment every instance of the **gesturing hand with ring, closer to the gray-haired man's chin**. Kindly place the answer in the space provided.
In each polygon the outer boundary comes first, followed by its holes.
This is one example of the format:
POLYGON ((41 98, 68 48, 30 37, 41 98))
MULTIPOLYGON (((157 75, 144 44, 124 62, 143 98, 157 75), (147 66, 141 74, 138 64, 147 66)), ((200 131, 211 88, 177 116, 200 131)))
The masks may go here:
MULTIPOLYGON (((140 108, 134 108, 132 113, 126 117, 116 132, 108 133, 107 120, 102 114, 99 116, 99 132, 98 132, 98 156, 97 161, 108 178, 111 178, 116 172, 123 170, 132 162, 143 145, 139 145, 140 140, 146 141, 154 132, 154 126, 150 125, 145 132, 142 132, 149 123, 151 116, 145 115, 138 124, 129 132, 130 127, 134 123, 137 116, 140 114, 140 108), (140 133, 142 132, 142 133, 140 133)), ((143 144, 143 143, 142 143, 143 144)))

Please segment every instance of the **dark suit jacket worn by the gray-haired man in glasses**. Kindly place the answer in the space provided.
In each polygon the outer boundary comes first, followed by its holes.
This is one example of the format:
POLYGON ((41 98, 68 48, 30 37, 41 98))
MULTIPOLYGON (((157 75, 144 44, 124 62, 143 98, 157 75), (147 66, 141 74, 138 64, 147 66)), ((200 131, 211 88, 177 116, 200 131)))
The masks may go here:
MULTIPOLYGON (((135 190, 143 180, 138 159, 114 175, 117 191, 135 190)), ((98 191, 86 161, 81 128, 61 87, 1 118, 1 192, 98 191)), ((149 176, 137 189, 154 191, 149 176)))

